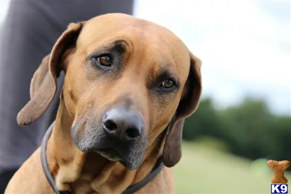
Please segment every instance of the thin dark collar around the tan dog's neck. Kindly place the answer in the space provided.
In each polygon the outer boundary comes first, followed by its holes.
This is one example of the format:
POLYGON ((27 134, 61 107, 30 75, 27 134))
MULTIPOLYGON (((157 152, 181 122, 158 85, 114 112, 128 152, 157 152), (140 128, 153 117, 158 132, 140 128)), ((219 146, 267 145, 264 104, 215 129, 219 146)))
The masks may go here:
MULTIPOLYGON (((170 128, 171 123, 168 125, 167 129, 170 128)), ((64 192, 64 191, 58 190, 58 188, 55 185, 55 180, 52 177, 51 172, 49 170, 49 164, 47 161, 47 146, 48 146, 49 136, 51 135, 53 127, 54 127, 54 122, 49 126, 49 129, 47 130, 41 143, 41 153, 40 153, 41 165, 43 167, 44 173, 49 181, 51 188, 55 191, 56 194, 72 194, 71 192, 64 192)), ((162 162, 162 158, 160 158, 157 161, 153 170, 150 172, 150 174, 146 176, 146 178, 144 178, 141 182, 138 182, 134 185, 129 186, 122 194, 133 194, 134 192, 140 190, 142 187, 144 187, 149 181, 154 179, 161 172, 163 166, 164 165, 162 162)))

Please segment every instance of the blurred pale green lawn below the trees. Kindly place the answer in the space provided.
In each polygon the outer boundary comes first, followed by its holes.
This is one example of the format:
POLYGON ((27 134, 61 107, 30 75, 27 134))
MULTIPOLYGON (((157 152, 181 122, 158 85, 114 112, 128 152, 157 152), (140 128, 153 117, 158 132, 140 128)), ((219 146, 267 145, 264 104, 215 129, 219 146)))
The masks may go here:
MULTIPOLYGON (((273 172, 266 162, 252 162, 210 146, 184 142, 182 159, 172 168, 176 193, 270 194, 273 172)), ((291 181, 291 174, 285 176, 291 181)))

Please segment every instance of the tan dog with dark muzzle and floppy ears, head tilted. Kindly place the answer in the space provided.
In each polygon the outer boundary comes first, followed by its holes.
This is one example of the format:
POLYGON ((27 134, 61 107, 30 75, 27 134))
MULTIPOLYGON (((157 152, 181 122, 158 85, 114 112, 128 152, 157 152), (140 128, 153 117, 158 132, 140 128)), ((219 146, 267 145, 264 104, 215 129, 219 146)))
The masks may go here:
MULTIPOLYGON (((63 71, 47 148, 56 187, 75 194, 122 193, 162 158, 161 172, 136 193, 174 193, 170 167, 181 158, 184 120, 199 104, 200 68, 201 60, 173 32, 150 21, 114 13, 70 23, 35 71, 31 99, 17 123, 29 125, 46 111, 63 71)), ((54 193, 40 148, 5 193, 54 193)))

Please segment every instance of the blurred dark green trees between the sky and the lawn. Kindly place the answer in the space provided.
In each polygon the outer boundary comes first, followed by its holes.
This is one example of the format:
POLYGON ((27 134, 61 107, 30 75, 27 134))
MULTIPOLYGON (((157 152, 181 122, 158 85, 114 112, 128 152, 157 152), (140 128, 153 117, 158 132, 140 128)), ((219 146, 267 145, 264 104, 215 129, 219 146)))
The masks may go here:
POLYGON ((184 140, 200 136, 219 138, 232 153, 249 159, 291 161, 291 117, 271 113, 260 99, 248 97, 225 110, 215 109, 211 98, 202 99, 183 130, 184 140))

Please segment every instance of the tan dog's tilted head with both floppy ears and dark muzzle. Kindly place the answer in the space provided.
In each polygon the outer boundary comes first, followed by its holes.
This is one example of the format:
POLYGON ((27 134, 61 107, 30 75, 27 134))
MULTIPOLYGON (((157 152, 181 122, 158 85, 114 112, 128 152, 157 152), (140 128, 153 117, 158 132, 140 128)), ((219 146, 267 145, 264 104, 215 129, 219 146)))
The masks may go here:
POLYGON ((72 23, 35 72, 17 122, 28 125, 46 111, 63 70, 61 98, 81 151, 137 169, 148 142, 173 120, 162 156, 171 167, 181 157, 184 119, 198 106, 200 66, 177 36, 146 20, 108 14, 72 23))

